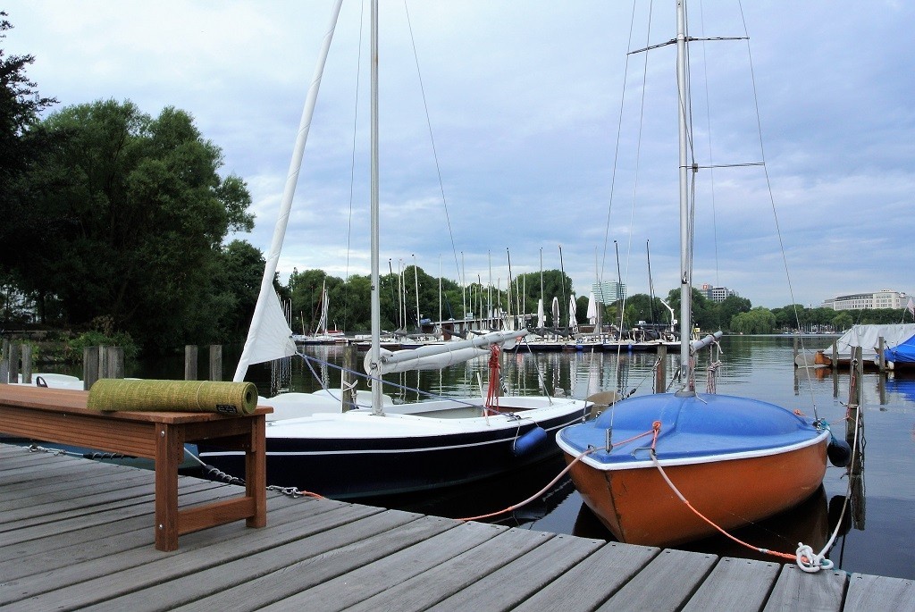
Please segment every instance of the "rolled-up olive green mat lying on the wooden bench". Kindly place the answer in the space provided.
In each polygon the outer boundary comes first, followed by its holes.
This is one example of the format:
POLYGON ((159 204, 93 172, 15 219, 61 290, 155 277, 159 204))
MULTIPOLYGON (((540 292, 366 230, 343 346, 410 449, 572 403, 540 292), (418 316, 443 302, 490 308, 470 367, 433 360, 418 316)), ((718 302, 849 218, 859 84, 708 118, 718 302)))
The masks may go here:
POLYGON ((257 407, 257 387, 252 382, 100 379, 86 405, 107 411, 250 414, 257 407))

